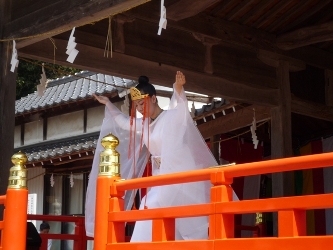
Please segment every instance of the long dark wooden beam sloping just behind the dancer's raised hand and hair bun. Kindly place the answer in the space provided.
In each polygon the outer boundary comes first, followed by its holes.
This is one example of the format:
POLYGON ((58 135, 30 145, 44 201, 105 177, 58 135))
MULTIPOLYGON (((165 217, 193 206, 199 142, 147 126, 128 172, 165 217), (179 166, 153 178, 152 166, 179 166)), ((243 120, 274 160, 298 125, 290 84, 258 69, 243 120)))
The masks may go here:
MULTIPOLYGON (((226 79, 215 75, 180 69, 171 65, 160 65, 157 62, 116 52, 113 53, 113 58, 105 58, 103 57, 103 49, 82 44, 77 45, 77 49, 81 53, 79 52, 74 64, 70 64, 66 62, 67 41, 55 40, 55 42, 58 48, 57 51, 59 51, 56 55, 57 64, 134 80, 138 76, 145 74, 149 76, 151 82, 166 87, 172 87, 175 72, 182 70, 186 75, 187 85, 185 88, 188 91, 267 106, 274 106, 278 101, 276 89, 260 88, 249 85, 249 82, 239 82, 236 76, 226 79), (100 57, 96 55, 100 55, 100 57)), ((52 52, 52 43, 42 41, 20 49, 19 56, 53 62, 52 52)))

